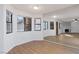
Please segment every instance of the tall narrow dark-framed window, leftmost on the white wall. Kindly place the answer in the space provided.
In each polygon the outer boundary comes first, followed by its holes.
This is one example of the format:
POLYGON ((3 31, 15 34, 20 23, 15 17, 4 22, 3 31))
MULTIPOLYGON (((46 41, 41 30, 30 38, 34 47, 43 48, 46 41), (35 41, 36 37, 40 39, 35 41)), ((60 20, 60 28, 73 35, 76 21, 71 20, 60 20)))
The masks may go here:
POLYGON ((12 33, 12 13, 6 10, 6 33, 12 33))

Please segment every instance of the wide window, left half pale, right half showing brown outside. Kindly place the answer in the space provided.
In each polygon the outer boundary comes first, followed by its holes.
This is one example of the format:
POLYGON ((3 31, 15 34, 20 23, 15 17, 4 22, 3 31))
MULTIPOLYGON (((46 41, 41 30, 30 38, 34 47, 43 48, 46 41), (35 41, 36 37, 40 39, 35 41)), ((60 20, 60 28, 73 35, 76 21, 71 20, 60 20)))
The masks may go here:
POLYGON ((17 17, 17 31, 31 31, 31 17, 17 17))

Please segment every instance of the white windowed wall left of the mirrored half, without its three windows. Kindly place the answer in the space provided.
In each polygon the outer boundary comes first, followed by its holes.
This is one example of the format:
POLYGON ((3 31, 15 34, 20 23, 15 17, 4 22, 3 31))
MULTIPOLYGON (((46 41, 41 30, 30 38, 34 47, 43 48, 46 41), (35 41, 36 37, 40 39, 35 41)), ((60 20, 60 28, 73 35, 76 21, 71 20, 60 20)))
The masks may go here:
MULTIPOLYGON (((42 31, 34 31, 34 22, 32 21, 32 31, 17 32, 17 15, 28 16, 34 18, 41 17, 39 15, 31 15, 26 12, 12 8, 10 5, 4 6, 4 53, 8 52, 16 45, 29 42, 32 40, 42 40, 42 31), (13 33, 6 34, 6 9, 13 13, 13 33)), ((42 25, 41 25, 42 26, 42 25)))

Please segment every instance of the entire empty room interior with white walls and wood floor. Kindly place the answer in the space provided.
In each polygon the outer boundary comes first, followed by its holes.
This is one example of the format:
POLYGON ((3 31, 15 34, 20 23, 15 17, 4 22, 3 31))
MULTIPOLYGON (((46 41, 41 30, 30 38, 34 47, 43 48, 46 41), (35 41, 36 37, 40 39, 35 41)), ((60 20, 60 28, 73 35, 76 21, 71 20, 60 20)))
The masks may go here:
POLYGON ((0 54, 78 54, 78 4, 0 4, 0 54))

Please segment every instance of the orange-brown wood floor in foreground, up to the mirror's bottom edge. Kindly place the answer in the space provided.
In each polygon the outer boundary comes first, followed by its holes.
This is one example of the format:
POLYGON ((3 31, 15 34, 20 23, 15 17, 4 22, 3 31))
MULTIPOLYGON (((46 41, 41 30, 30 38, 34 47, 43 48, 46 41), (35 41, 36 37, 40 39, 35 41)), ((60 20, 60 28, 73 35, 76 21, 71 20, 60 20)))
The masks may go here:
POLYGON ((51 43, 45 40, 31 41, 11 49, 8 54, 74 54, 79 53, 78 49, 60 44, 51 43))

